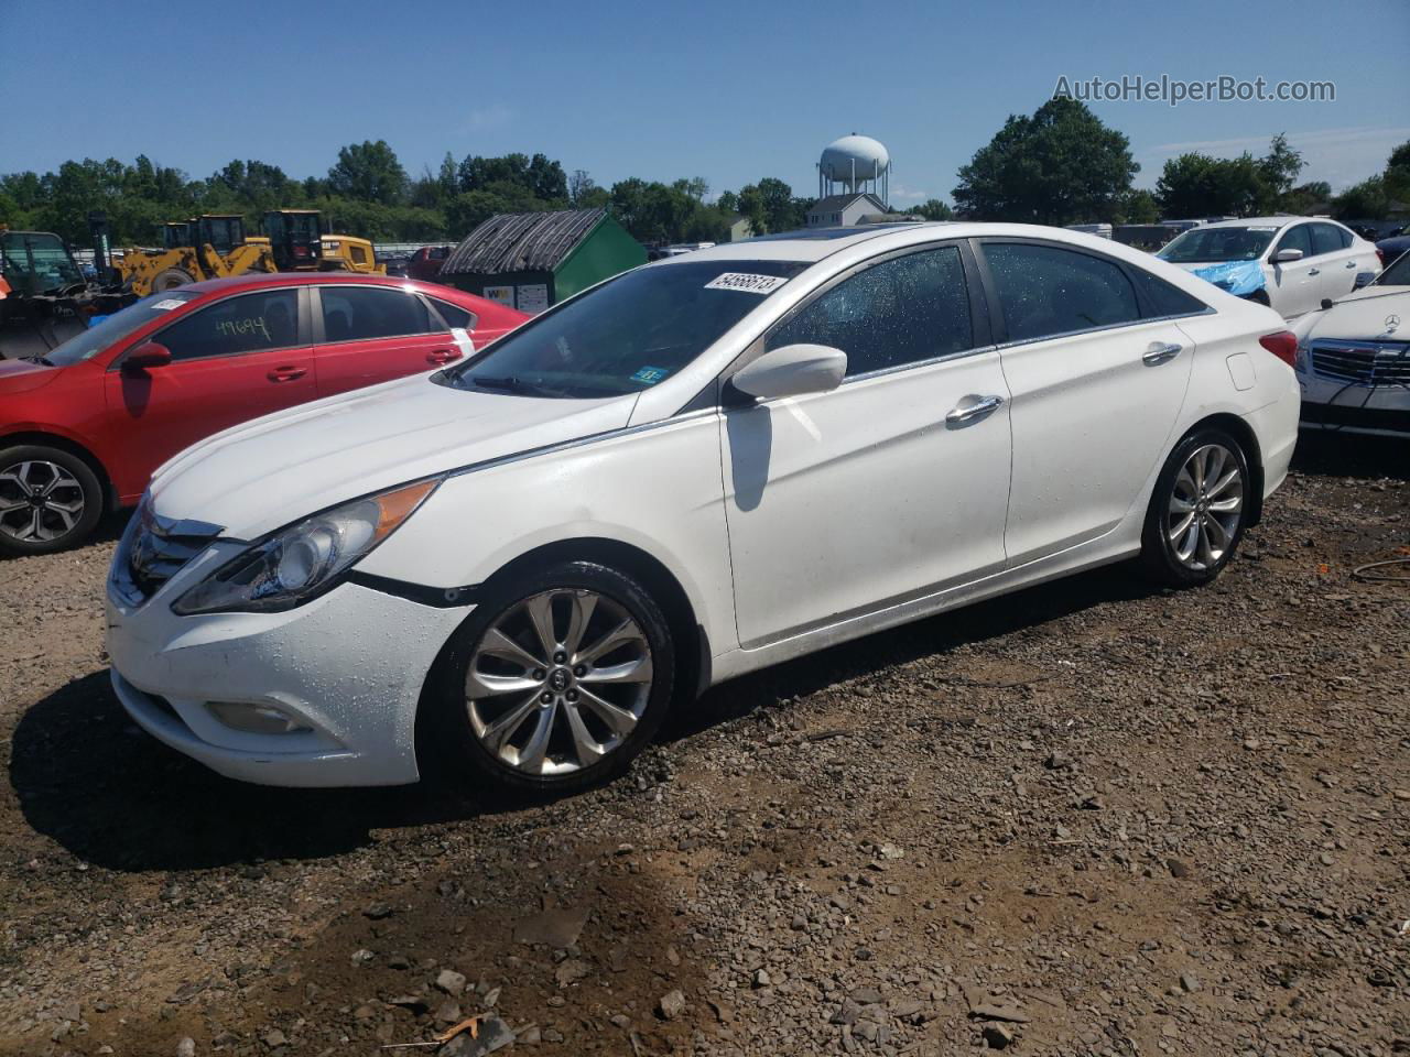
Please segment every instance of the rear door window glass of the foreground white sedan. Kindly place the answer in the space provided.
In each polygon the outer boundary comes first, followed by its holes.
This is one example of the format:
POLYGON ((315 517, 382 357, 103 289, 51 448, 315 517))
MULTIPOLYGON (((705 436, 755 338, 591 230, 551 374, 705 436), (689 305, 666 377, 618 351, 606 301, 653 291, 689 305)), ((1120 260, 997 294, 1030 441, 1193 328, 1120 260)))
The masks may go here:
POLYGON ((984 259, 1010 341, 1141 319, 1131 280, 1110 261, 1031 242, 988 242, 984 259))

